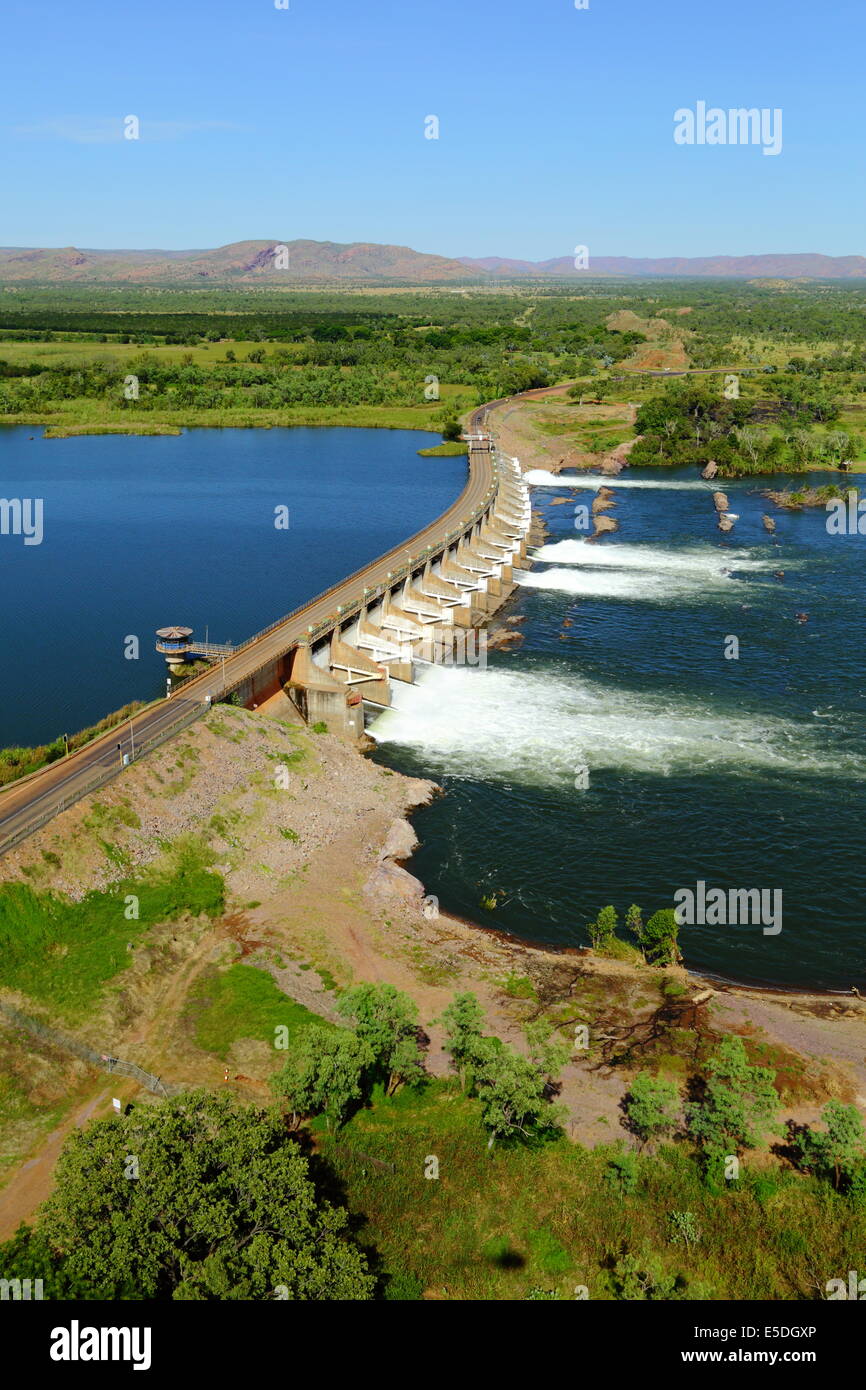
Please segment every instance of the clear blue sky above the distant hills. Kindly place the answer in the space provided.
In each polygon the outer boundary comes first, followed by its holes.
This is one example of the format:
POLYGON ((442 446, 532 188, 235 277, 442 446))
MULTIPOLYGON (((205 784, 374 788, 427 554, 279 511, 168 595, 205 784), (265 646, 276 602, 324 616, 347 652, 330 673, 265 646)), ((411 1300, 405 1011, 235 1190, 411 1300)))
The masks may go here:
POLYGON ((289 3, 6 0, 0 245, 866 253, 863 0, 289 3), (674 145, 698 100, 781 154, 674 145))

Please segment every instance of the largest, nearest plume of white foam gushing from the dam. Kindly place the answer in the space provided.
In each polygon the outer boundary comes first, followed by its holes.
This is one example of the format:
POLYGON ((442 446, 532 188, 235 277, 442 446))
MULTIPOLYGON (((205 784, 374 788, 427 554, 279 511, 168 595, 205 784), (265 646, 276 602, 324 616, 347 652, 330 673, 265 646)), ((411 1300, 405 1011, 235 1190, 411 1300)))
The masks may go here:
POLYGON ((428 667, 400 709, 370 726, 379 744, 414 749, 431 773, 573 788, 582 767, 659 776, 719 770, 863 777, 866 759, 834 753, 826 726, 681 695, 635 692, 548 673, 428 667))

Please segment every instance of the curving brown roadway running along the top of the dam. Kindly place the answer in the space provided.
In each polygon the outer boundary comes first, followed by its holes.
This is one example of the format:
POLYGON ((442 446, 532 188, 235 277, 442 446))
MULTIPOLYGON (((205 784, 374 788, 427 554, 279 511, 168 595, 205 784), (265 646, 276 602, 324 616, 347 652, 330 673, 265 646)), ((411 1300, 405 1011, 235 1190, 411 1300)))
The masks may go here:
MULTIPOLYGON (((477 435, 482 430, 488 409, 489 404, 473 411, 470 434, 477 435)), ((463 492, 423 531, 279 619, 210 670, 185 681, 177 694, 147 706, 85 748, 0 792, 0 853, 14 848, 58 812, 104 784, 114 770, 120 770, 125 758, 132 762, 179 733, 210 702, 238 689, 256 673, 278 662, 299 644, 307 642, 310 632, 334 620, 338 607, 346 610, 364 603, 368 591, 388 584, 393 571, 406 569, 407 559, 411 570, 413 564, 423 560, 423 552, 435 550, 449 535, 466 528, 470 518, 484 513, 495 495, 495 482, 491 449, 487 445, 470 445, 468 478, 463 492)))

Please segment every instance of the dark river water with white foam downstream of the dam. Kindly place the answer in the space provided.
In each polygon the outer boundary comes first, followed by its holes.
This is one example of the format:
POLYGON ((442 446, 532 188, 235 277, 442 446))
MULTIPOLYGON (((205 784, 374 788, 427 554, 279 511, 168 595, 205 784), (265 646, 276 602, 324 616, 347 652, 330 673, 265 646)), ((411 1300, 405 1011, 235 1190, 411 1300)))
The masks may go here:
POLYGON ((649 913, 698 880, 781 890, 781 933, 684 927, 687 965, 863 988, 866 537, 760 498, 790 478, 726 482, 727 538, 694 473, 628 480, 652 486, 619 488, 619 532, 582 548, 574 503, 592 493, 535 488, 548 548, 506 610, 523 648, 434 670, 377 726, 377 756, 446 791, 414 817, 413 869, 443 908, 557 945, 587 944, 607 902, 649 913))

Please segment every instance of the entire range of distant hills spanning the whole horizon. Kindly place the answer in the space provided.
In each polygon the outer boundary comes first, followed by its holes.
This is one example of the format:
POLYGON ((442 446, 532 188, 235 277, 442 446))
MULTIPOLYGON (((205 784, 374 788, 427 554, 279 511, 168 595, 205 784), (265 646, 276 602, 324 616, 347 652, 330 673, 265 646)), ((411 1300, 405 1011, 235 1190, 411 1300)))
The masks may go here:
POLYGON ((491 284, 524 277, 667 275, 723 277, 765 281, 866 278, 865 256, 817 253, 776 256, 591 256, 588 270, 575 270, 570 256, 553 260, 509 260, 502 256, 457 260, 428 256, 409 246, 375 242, 232 242, 215 250, 79 250, 0 249, 3 284, 125 284, 125 285, 291 285, 292 282, 363 282, 391 285, 491 284), (278 268, 277 249, 289 252, 289 267, 278 268))

